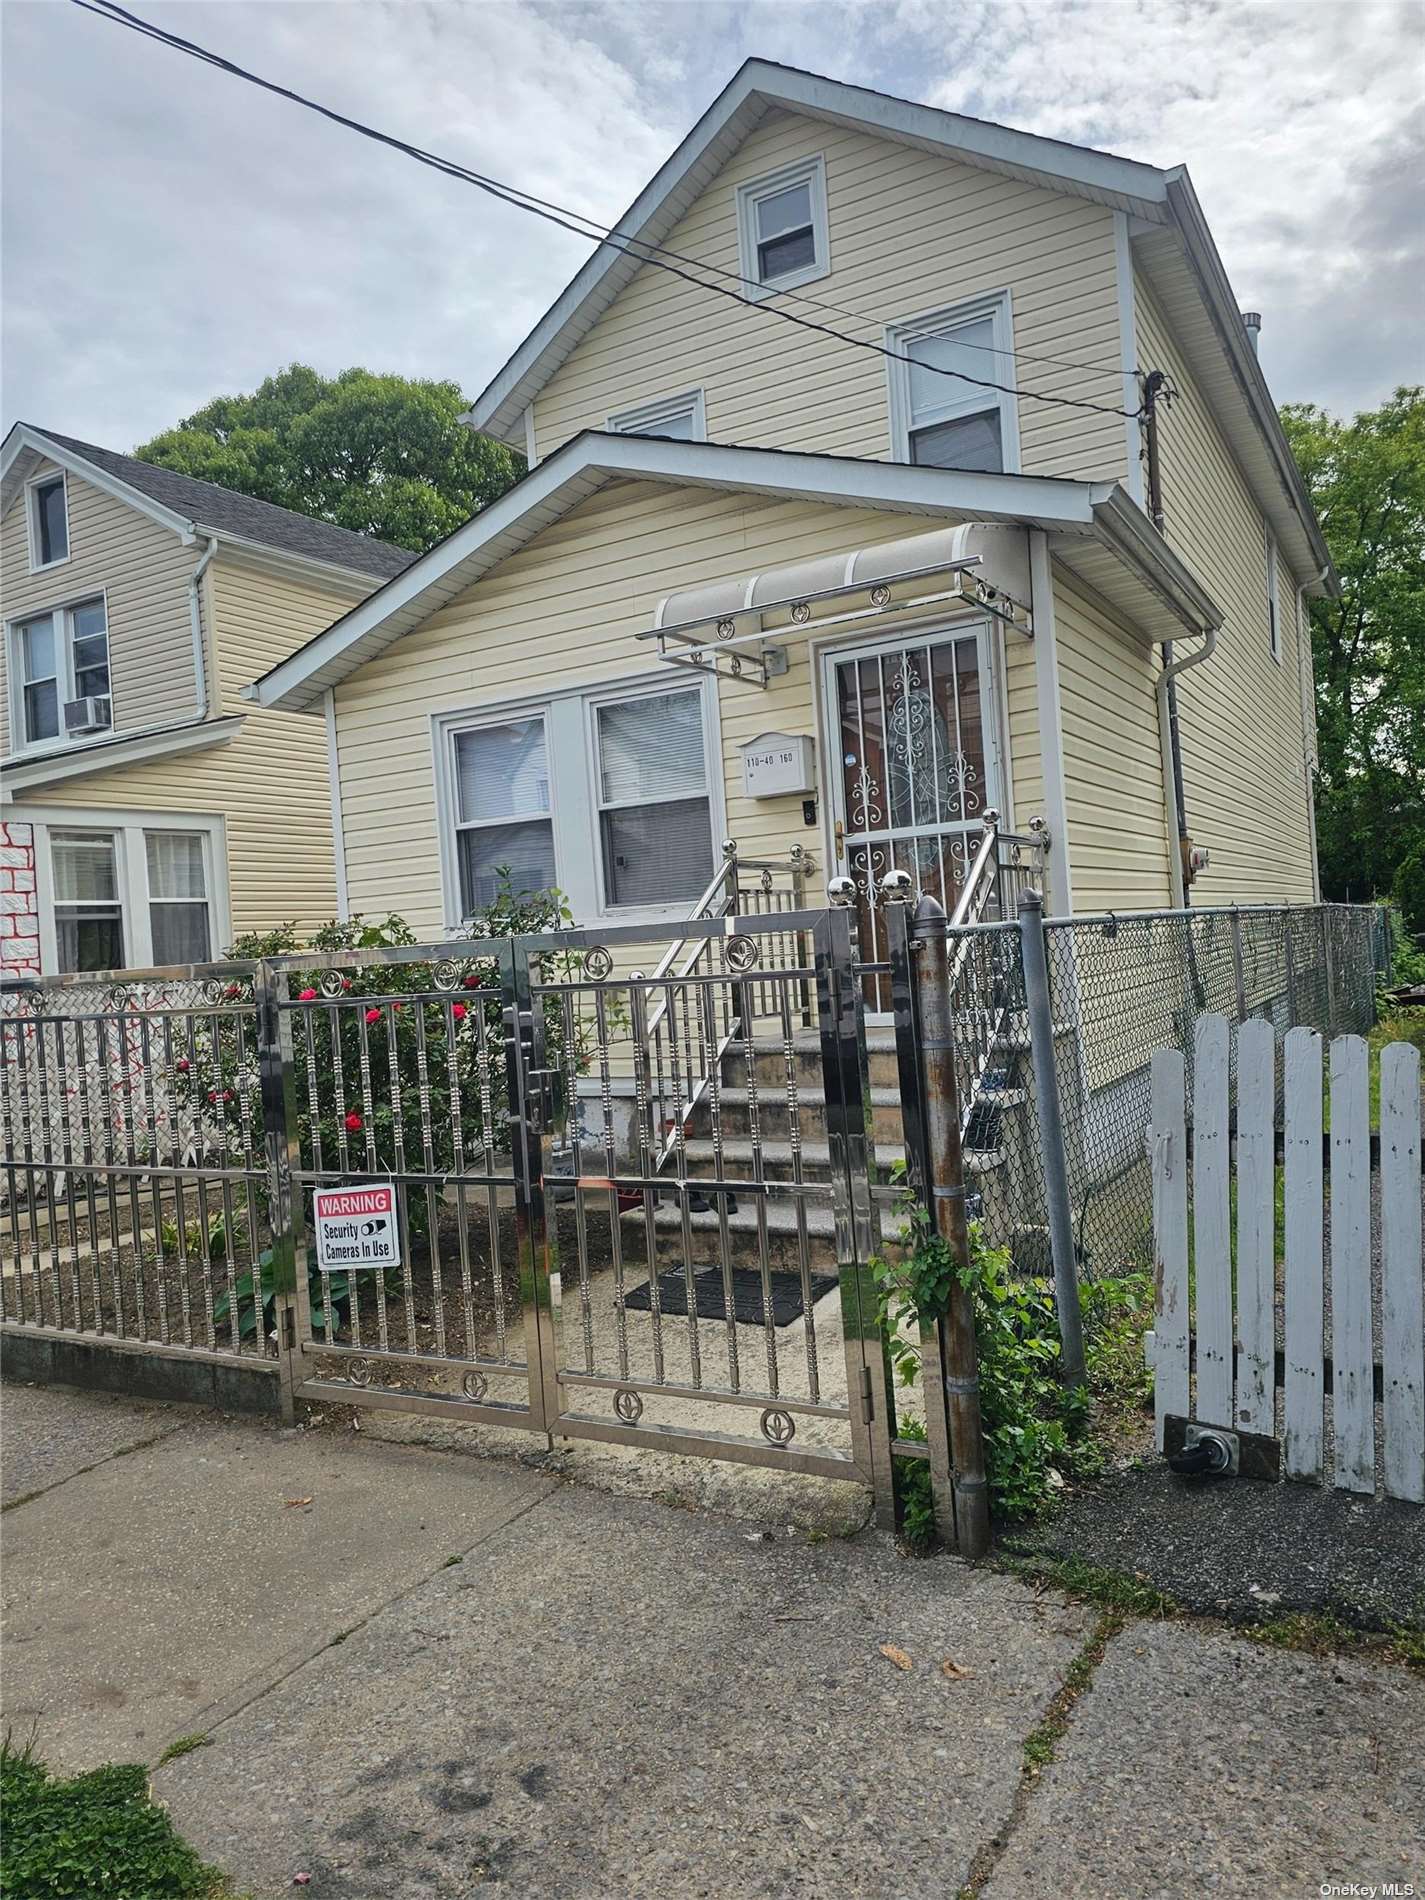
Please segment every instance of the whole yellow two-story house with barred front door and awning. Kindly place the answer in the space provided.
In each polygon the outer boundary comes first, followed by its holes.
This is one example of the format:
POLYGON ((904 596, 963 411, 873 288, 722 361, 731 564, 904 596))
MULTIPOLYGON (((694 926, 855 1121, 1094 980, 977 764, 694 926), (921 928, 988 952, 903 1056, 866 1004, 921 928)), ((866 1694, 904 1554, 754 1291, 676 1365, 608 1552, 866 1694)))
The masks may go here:
POLYGON ((528 475, 253 688, 353 910, 678 918, 732 838, 876 944, 986 808, 1062 914, 1317 895, 1336 581, 1186 171, 749 61, 618 230, 471 410, 528 475))

